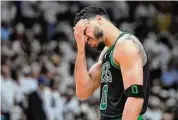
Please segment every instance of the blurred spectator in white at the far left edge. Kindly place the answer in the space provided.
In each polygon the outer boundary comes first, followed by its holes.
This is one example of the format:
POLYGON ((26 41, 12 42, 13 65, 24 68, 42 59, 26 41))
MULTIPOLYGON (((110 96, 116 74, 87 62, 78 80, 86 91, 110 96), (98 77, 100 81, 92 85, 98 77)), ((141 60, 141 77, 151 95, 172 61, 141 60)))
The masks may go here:
POLYGON ((11 120, 12 108, 18 100, 18 89, 15 81, 11 78, 11 72, 8 65, 2 65, 1 76, 1 114, 6 120, 11 120))

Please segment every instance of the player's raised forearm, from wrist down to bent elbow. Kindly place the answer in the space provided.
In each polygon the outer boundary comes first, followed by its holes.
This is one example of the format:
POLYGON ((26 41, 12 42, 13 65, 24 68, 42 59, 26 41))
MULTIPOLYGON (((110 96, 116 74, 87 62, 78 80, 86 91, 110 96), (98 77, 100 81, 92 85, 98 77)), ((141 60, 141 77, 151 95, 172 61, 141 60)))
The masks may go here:
POLYGON ((86 98, 90 95, 92 84, 87 70, 85 50, 79 50, 75 63, 74 72, 76 82, 76 94, 79 98, 86 98))

